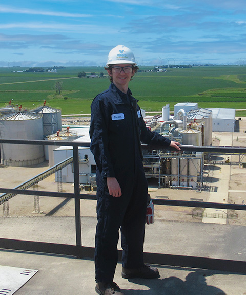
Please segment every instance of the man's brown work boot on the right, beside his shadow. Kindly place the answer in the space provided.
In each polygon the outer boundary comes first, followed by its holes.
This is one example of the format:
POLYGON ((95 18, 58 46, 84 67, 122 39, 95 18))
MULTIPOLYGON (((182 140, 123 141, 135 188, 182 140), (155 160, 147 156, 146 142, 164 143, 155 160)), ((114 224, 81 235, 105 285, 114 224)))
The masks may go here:
POLYGON ((143 278, 143 279, 155 279, 159 278, 160 274, 156 267, 151 267, 149 265, 144 265, 140 268, 122 268, 122 278, 132 279, 132 278, 143 278))

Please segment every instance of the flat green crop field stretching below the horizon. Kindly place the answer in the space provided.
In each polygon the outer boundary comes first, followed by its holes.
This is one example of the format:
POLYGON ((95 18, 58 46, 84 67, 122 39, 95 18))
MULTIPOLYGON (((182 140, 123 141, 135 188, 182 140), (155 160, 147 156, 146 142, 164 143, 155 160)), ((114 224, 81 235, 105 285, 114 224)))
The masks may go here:
MULTIPOLYGON (((158 112, 170 104, 197 102, 203 108, 246 109, 246 67, 204 66, 170 68, 167 72, 150 72, 153 67, 140 67, 129 86, 139 105, 146 112, 158 112)), ((22 72, 24 68, 0 68, 0 107, 11 100, 12 105, 34 109, 43 105, 60 108, 63 115, 88 114, 93 98, 109 86, 107 71, 103 67, 67 67, 57 72, 22 72), (20 71, 20 72, 17 72, 20 71), (101 78, 78 78, 104 73, 101 78), (61 85, 60 94, 55 84, 61 85)), ((236 112, 246 116, 246 111, 236 112)))

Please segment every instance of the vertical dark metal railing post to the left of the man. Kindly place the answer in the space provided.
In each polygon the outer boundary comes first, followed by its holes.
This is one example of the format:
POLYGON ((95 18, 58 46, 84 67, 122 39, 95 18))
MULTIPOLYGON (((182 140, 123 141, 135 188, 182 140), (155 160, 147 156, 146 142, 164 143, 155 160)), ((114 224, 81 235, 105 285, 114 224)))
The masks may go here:
POLYGON ((76 225, 76 246, 82 246, 81 240, 81 214, 79 198, 79 161, 78 146, 73 146, 73 176, 74 176, 74 204, 75 204, 75 225, 76 225))

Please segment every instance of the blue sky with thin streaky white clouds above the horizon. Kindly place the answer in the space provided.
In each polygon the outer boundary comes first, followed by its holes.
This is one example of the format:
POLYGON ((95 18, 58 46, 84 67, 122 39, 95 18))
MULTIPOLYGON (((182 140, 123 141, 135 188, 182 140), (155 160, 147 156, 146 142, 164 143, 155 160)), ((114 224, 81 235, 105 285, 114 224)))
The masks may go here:
POLYGON ((244 64, 245 0, 0 2, 0 66, 102 66, 119 44, 139 65, 244 64))

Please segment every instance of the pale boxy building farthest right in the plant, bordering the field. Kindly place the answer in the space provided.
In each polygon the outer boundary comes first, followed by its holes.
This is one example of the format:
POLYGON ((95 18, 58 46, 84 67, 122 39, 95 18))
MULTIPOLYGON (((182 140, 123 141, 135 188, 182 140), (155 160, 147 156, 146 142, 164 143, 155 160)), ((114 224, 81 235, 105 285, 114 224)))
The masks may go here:
POLYGON ((213 131, 234 132, 235 108, 209 108, 213 116, 213 131))

